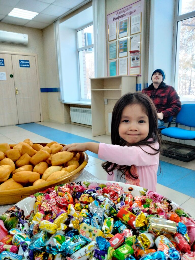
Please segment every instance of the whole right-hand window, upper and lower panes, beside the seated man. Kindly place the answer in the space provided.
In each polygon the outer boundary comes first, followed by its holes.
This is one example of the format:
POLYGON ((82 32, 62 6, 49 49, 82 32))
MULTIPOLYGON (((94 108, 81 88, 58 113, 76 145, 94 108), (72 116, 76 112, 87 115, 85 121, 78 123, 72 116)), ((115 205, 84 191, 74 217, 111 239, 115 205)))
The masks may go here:
POLYGON ((195 0, 178 4, 175 86, 181 101, 195 101, 195 0))

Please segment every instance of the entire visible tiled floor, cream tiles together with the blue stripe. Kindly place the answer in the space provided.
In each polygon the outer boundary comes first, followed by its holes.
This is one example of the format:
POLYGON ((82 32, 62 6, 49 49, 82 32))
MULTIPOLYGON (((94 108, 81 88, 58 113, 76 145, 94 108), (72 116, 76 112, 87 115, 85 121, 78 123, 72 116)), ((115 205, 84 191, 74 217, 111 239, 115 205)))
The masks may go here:
MULTIPOLYGON (((64 138, 63 143, 65 144, 77 142, 78 140, 87 141, 87 139, 91 139, 97 142, 105 142, 108 144, 111 143, 109 135, 93 137, 92 129, 88 127, 77 126, 73 124, 64 125, 50 121, 38 122, 38 124, 40 127, 43 126, 42 133, 40 133, 40 131, 36 131, 37 124, 34 124, 33 127, 32 125, 29 125, 28 127, 28 124, 26 124, 25 129, 22 128, 22 126, 0 127, 0 142, 7 142, 8 144, 11 144, 21 142, 26 138, 30 138, 30 140, 33 142, 50 142, 53 140, 57 141, 57 138, 59 138, 59 135, 61 134, 60 131, 64 131, 62 134, 64 138), (58 133, 56 132, 57 134, 54 136, 52 135, 52 131, 49 131, 50 129, 44 126, 60 131, 58 133), (49 138, 44 136, 49 136, 49 138)), ((98 159, 97 156, 94 157, 94 154, 92 155, 88 154, 89 161, 85 169, 97 178, 106 180, 105 171, 101 167, 102 160, 98 159)), ((192 217, 195 218, 195 196, 191 195, 193 193, 190 193, 190 196, 186 195, 189 194, 189 190, 191 192, 194 190, 195 160, 190 162, 182 162, 164 156, 160 156, 160 160, 162 161, 161 165, 164 168, 164 171, 158 177, 158 182, 161 184, 157 184, 157 192, 181 205, 181 207, 183 207, 191 214, 192 217), (167 172, 169 174, 168 176, 167 172), (187 181, 187 185, 183 185, 184 180, 187 181), (183 193, 173 190, 174 185, 177 185, 177 187, 179 187, 179 191, 182 191, 183 193)))

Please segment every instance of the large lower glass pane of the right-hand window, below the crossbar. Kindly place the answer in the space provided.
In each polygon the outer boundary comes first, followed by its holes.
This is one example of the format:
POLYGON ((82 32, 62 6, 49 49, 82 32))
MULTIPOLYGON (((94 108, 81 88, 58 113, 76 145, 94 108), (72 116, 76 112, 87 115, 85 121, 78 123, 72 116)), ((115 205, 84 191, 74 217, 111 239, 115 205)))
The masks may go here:
POLYGON ((176 86, 182 101, 195 101, 195 17, 178 22, 176 86))

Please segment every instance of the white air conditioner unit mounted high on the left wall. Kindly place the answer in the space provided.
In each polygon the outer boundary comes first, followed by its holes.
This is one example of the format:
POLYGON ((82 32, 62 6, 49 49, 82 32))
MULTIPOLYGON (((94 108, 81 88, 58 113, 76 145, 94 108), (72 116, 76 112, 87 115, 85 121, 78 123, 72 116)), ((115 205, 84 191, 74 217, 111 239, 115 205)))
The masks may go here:
POLYGON ((28 34, 13 33, 0 30, 0 42, 9 42, 17 44, 28 44, 28 34))

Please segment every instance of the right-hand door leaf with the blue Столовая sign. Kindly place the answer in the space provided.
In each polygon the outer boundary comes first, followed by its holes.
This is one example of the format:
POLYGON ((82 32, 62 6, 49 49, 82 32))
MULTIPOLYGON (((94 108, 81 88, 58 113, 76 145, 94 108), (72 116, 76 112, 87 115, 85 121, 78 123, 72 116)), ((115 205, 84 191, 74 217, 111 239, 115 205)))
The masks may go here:
POLYGON ((35 56, 11 55, 18 122, 41 121, 35 56))

